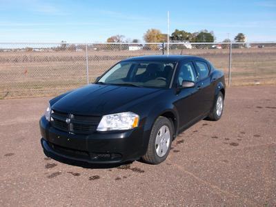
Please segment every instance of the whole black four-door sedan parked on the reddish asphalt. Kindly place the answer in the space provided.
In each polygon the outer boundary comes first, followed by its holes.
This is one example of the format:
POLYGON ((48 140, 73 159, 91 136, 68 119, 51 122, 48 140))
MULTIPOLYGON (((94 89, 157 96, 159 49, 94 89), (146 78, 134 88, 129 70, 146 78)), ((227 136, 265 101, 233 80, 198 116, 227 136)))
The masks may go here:
POLYGON ((224 110, 224 73, 201 57, 133 57, 95 83, 50 100, 41 117, 48 157, 159 164, 179 132, 224 110))

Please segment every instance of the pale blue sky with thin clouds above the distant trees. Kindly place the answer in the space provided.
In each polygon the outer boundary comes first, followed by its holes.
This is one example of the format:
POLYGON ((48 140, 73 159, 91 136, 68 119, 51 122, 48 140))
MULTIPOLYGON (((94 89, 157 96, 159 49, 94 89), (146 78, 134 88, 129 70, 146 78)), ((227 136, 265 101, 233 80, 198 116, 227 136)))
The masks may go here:
POLYGON ((0 0, 0 42, 92 42, 115 34, 142 41, 149 28, 166 33, 167 10, 170 32, 213 30, 217 41, 243 32, 247 41, 276 41, 276 0, 0 0))

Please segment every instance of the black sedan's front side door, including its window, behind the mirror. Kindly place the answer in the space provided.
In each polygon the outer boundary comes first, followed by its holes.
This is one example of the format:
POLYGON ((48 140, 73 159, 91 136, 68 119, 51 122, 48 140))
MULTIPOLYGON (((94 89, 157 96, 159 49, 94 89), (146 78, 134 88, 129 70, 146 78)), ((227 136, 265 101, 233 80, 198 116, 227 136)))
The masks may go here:
POLYGON ((179 70, 175 76, 175 107, 179 112, 179 128, 184 128, 196 117, 199 116, 199 101, 197 88, 180 88, 182 81, 197 82, 197 73, 192 61, 185 61, 179 64, 179 70))

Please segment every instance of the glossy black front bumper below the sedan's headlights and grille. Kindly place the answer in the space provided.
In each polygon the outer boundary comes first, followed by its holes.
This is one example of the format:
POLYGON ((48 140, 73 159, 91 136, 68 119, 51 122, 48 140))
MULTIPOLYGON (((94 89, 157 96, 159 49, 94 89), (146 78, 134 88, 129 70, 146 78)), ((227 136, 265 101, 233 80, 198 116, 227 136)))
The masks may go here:
MULTIPOLYGON (((41 146, 46 155, 91 164, 115 164, 139 159, 146 153, 143 128, 72 135, 50 126, 41 117, 41 146)), ((148 135, 149 136, 149 135, 148 135)))

